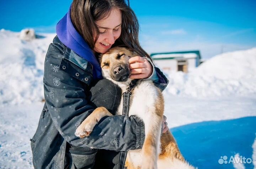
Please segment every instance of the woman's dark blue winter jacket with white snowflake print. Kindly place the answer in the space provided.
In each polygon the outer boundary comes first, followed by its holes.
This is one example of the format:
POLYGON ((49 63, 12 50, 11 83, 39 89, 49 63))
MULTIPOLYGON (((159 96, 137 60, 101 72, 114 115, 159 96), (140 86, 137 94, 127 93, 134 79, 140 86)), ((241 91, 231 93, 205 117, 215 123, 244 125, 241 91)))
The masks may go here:
MULTIPOLYGON (((155 68, 161 90, 168 80, 155 68)), ((36 169, 63 169, 67 142, 84 147, 84 161, 94 163, 97 149, 128 151, 142 148, 144 124, 134 116, 110 116, 98 123, 90 136, 79 139, 75 130, 94 110, 88 104, 92 65, 66 47, 56 36, 50 44, 44 63, 44 104, 38 128, 31 139, 33 165, 36 169), (114 128, 116 135, 111 136, 114 128)))

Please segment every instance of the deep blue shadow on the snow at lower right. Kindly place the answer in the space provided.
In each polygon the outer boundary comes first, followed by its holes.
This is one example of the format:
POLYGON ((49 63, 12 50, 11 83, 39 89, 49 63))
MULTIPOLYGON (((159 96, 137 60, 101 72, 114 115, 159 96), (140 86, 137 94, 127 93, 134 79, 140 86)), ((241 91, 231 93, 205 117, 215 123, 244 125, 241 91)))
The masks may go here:
MULTIPOLYGON (((198 169, 234 169, 232 163, 219 164, 221 156, 252 159, 256 116, 233 120, 207 121, 170 129, 185 159, 198 169)), ((254 165, 244 164, 246 169, 254 165)), ((256 167, 256 166, 255 166, 256 167)))

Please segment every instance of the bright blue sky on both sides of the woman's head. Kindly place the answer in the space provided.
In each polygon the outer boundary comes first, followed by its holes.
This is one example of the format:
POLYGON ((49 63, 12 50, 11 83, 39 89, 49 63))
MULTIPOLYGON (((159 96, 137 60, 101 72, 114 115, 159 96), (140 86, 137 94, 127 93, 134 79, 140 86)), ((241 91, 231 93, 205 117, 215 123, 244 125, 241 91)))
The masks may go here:
MULTIPOLYGON (((72 1, 17 1, 0 5, 0 29, 54 33, 72 1)), ((199 49, 203 58, 256 47, 255 0, 130 0, 146 51, 199 49), (160 3, 161 2, 161 3, 160 3)))

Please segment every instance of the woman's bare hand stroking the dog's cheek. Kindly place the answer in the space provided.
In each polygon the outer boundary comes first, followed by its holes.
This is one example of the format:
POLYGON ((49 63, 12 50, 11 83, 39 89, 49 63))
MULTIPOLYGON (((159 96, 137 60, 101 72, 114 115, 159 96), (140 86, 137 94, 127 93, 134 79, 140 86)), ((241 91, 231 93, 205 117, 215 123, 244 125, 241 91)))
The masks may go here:
POLYGON ((149 61, 140 56, 129 59, 131 75, 130 78, 148 78, 153 73, 153 67, 149 61))

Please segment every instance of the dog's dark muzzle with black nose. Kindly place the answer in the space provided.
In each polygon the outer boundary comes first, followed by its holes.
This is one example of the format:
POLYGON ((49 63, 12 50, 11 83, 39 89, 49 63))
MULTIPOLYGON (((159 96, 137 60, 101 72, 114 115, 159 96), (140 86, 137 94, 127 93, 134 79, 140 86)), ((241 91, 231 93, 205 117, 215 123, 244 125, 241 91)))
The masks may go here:
POLYGON ((118 65, 112 70, 111 76, 117 82, 125 82, 130 76, 130 70, 126 65, 118 65))

